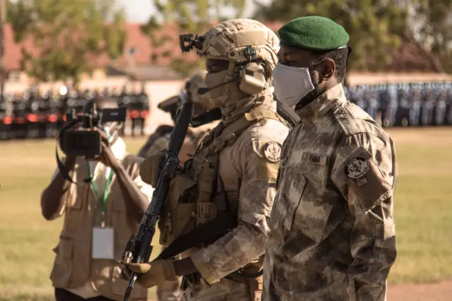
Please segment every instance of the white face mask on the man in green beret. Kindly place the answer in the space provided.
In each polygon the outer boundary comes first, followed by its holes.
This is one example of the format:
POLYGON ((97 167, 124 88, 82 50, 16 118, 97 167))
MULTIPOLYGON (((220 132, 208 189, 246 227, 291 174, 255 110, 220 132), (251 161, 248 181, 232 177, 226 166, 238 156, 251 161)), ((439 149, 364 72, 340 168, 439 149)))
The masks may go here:
POLYGON ((297 105, 304 96, 314 90, 309 68, 290 67, 283 64, 278 64, 273 70, 273 87, 278 100, 289 107, 297 105))

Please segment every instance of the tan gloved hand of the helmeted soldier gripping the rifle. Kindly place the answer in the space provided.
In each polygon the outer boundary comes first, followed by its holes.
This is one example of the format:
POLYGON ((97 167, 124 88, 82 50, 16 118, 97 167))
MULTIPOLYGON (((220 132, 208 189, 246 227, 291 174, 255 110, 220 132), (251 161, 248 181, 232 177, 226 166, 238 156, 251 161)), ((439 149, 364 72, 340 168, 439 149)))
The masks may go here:
POLYGON ((156 260, 148 264, 128 264, 121 272, 121 278, 129 280, 131 271, 140 274, 138 284, 143 288, 152 288, 167 281, 177 281, 176 271, 171 259, 156 260))

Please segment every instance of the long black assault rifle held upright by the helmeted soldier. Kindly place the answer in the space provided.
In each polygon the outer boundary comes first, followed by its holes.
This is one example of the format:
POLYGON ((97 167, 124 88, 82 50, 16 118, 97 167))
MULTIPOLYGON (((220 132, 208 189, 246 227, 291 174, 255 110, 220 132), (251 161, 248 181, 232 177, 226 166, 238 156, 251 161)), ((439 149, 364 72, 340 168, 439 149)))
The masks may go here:
MULTIPOLYGON (((140 225, 135 235, 132 235, 126 244, 126 249, 122 254, 122 260, 126 264, 146 263, 149 261, 153 246, 150 243, 155 234, 155 227, 160 218, 160 209, 167 198, 169 183, 176 172, 181 169, 179 166, 179 151, 184 143, 186 131, 189 128, 191 114, 193 113, 193 102, 187 100, 184 90, 179 95, 181 106, 177 114, 174 129, 171 132, 167 153, 163 161, 162 170, 160 170, 157 185, 153 193, 153 199, 150 201, 148 209, 143 214, 140 225)), ((138 278, 138 273, 131 273, 129 284, 124 293, 124 301, 129 300, 129 296, 138 278)))

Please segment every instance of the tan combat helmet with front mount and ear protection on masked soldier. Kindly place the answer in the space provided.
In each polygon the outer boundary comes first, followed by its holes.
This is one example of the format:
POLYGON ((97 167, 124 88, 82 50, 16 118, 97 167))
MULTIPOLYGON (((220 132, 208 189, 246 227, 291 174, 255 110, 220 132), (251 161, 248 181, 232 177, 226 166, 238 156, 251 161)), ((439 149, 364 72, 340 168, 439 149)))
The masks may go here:
POLYGON ((180 40, 183 52, 194 48, 201 57, 229 62, 226 70, 206 77, 210 101, 217 107, 230 98, 227 83, 238 83, 243 93, 256 95, 268 88, 278 64, 278 36, 256 20, 227 20, 202 36, 181 35, 180 40))

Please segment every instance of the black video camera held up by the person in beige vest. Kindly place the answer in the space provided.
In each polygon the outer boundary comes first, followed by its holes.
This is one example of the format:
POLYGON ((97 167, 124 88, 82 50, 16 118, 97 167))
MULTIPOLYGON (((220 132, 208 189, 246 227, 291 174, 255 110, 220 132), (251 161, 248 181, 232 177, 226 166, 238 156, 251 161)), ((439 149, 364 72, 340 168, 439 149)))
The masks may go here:
POLYGON ((95 105, 89 114, 66 114, 67 126, 61 130, 59 145, 66 155, 94 158, 102 153, 102 137, 94 128, 102 129, 105 122, 125 122, 126 107, 96 110, 95 105), (81 124, 80 127, 76 127, 81 124))

